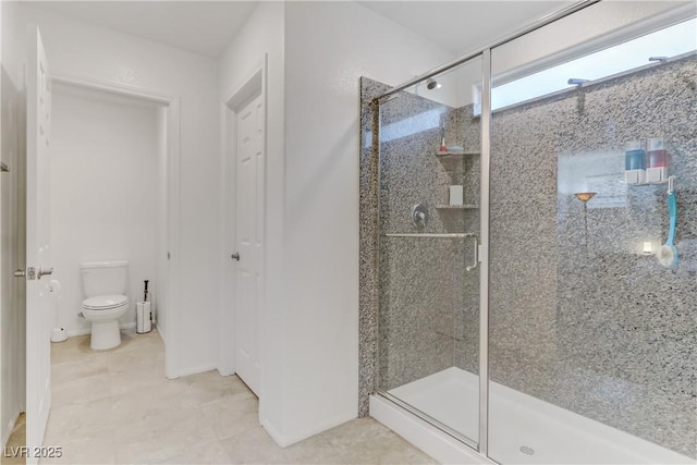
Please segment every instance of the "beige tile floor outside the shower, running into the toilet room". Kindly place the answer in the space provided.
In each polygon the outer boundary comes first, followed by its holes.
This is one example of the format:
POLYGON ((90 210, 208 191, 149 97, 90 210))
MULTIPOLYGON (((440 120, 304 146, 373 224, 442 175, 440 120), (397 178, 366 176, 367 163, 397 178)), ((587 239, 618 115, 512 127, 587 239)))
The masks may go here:
MULTIPOLYGON (((281 449, 258 424, 258 401, 217 371, 164 378, 157 332, 89 348, 89 336, 52 344, 53 406, 46 446, 70 464, 433 464, 370 418, 281 449)), ((4 463, 4 462, 3 462, 4 463)))

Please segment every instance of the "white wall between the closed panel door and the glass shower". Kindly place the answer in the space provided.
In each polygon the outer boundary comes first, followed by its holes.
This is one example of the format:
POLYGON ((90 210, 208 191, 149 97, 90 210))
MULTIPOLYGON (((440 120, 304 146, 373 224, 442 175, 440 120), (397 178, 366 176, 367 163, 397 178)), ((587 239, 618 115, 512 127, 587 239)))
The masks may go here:
MULTIPOLYGON (((354 2, 262 2, 220 61, 221 103, 265 52, 259 405, 261 424, 286 445, 357 415, 358 77, 399 84, 453 57, 354 2)), ((233 185, 221 192, 232 198, 233 185)), ((225 247, 229 257, 233 242, 225 247)), ((222 264, 228 282, 232 267, 222 264)))

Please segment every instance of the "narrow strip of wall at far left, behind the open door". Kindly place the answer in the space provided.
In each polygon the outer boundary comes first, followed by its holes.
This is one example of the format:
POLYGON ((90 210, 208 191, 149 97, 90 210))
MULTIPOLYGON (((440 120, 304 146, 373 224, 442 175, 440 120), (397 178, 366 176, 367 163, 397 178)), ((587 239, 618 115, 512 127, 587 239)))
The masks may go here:
POLYGON ((5 443, 25 406, 24 281, 12 276, 24 267, 24 99, 21 61, 25 50, 15 39, 15 5, 2 2, 0 76, 0 159, 10 167, 0 174, 0 442, 5 443))

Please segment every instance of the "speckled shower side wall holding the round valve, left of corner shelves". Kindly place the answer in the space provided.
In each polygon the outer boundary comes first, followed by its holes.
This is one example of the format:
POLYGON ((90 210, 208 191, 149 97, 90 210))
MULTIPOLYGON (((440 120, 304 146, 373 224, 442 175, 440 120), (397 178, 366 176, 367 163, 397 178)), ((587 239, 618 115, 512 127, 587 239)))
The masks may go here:
MULTIPOLYGON (((401 93, 380 107, 380 316, 379 387, 383 390, 440 371, 453 364, 453 241, 386 237, 384 233, 445 232, 435 206, 450 184, 435 154, 439 122, 451 109, 401 93), (438 188, 441 187, 441 188, 438 188), (412 207, 424 204, 424 229, 412 207)), ((451 122, 447 127, 452 127, 451 122)), ((448 139, 448 137, 447 137, 448 139)))

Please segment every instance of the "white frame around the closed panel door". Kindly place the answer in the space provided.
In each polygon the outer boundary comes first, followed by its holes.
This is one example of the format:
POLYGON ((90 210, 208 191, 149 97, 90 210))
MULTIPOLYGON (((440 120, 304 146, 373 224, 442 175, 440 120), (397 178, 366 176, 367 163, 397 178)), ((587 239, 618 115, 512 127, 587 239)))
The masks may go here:
MULTIPOLYGON (((220 315, 219 315, 219 357, 218 371, 223 375, 233 375, 236 370, 235 354, 237 341, 234 336, 236 326, 237 308, 235 305, 235 293, 229 292, 225 286, 227 282, 233 282, 232 289, 236 289, 236 276, 234 273, 234 265, 230 256, 235 253, 236 237, 236 175, 237 175, 237 113, 252 99, 260 96, 264 107, 264 200, 261 201, 261 257, 259 267, 261 268, 261 295, 258 302, 258 329, 257 340, 259 341, 259 364, 264 367, 264 344, 261 344, 261 322, 265 315, 265 296, 266 296, 266 257, 267 257, 267 234, 266 234, 266 211, 267 211, 267 147, 268 147, 268 111, 267 111, 267 76, 268 76, 268 56, 264 53, 259 64, 254 71, 242 81, 242 84, 233 87, 233 90, 225 94, 225 98, 221 105, 221 123, 222 123, 222 151, 221 151, 221 213, 222 221, 221 231, 221 273, 223 282, 221 283, 220 295, 220 315)), ((259 374, 259 392, 264 386, 264 370, 259 374)))

